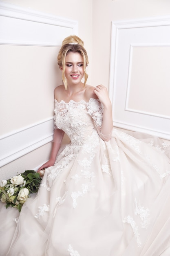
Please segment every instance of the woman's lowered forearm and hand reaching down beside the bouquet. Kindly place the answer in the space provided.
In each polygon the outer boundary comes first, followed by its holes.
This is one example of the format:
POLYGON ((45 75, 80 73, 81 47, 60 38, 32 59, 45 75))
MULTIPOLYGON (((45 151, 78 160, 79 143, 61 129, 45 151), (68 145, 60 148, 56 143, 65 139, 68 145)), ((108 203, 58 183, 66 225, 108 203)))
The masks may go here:
POLYGON ((55 163, 55 159, 58 153, 58 150, 60 149, 60 145, 62 142, 62 139, 64 137, 64 131, 55 129, 54 130, 54 135, 53 135, 53 145, 52 145, 52 150, 51 150, 51 155, 49 161, 47 161, 45 164, 43 164, 39 169, 38 173, 44 168, 48 168, 50 166, 53 166, 55 163))

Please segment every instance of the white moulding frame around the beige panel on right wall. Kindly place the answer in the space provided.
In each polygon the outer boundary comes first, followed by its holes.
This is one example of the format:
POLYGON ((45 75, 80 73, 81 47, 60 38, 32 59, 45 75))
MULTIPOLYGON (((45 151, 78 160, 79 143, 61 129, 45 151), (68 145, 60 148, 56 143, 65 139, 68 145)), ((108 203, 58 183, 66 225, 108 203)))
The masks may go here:
POLYGON ((128 108, 132 48, 170 47, 169 34, 170 16, 112 22, 109 96, 114 126, 170 139, 170 115, 128 108))

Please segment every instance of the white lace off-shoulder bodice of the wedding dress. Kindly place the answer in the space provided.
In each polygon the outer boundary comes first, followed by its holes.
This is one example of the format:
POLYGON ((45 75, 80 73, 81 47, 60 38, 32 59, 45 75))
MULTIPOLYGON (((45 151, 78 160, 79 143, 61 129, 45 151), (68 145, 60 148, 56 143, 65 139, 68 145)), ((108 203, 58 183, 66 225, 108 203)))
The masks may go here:
POLYGON ((99 100, 55 100, 54 127, 66 132, 73 145, 84 144, 102 126, 103 106, 99 100))

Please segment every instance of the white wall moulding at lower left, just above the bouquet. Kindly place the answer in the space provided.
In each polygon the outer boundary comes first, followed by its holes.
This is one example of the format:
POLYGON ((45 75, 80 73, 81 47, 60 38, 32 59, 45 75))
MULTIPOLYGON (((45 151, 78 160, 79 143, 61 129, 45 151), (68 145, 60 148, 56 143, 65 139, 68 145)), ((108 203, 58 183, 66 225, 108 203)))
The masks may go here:
POLYGON ((53 140, 53 118, 0 137, 0 167, 53 140))

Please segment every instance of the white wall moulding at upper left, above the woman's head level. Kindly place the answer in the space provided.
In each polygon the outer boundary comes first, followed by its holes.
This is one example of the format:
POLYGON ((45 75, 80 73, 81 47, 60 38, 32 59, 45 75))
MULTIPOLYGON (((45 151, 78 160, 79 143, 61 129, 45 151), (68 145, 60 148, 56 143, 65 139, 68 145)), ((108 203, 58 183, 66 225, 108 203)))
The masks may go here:
POLYGON ((61 46, 78 22, 0 1, 0 44, 61 46))

